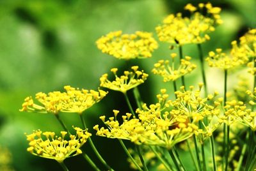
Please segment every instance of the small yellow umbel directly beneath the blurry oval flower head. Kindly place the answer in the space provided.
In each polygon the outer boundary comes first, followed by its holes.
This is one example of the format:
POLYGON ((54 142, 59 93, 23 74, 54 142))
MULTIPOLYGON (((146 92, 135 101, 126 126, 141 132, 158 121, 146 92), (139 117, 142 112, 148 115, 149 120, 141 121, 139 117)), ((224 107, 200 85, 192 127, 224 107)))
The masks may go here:
POLYGON ((120 77, 116 75, 118 69, 112 68, 111 72, 115 75, 115 80, 109 81, 108 74, 105 73, 100 77, 100 87, 106 87, 125 94, 129 89, 133 89, 147 80, 148 74, 144 73, 143 70, 139 71, 138 68, 138 66, 132 66, 132 71, 124 71, 124 75, 120 77))

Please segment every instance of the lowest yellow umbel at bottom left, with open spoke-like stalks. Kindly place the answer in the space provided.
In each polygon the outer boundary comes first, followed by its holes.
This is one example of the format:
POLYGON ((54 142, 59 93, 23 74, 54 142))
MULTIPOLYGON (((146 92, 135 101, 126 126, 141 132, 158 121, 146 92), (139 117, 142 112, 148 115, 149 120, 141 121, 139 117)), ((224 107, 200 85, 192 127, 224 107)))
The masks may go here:
POLYGON ((26 135, 29 141, 27 150, 35 156, 53 159, 61 163, 66 158, 81 154, 80 147, 92 136, 91 133, 81 128, 74 127, 74 130, 76 130, 76 135, 70 135, 69 140, 65 140, 66 131, 61 131, 61 137, 56 136, 54 132, 34 131, 26 135))

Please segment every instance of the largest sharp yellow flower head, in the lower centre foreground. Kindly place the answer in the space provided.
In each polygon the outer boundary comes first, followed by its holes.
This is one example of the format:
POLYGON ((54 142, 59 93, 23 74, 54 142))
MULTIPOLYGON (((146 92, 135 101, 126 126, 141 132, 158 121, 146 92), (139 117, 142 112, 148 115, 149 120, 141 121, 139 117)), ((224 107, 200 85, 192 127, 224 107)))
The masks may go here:
POLYGON ((130 140, 138 145, 159 145, 167 149, 191 137, 198 126, 187 123, 186 116, 174 116, 168 111, 171 101, 167 100, 166 89, 162 89, 157 98, 158 103, 149 107, 144 104, 142 109, 136 110, 138 118, 131 118, 132 114, 127 113, 122 115, 123 122, 120 123, 116 119, 118 110, 114 110, 115 117, 109 117, 108 121, 105 120, 105 116, 101 116, 100 119, 108 128, 99 128, 99 125, 95 125, 97 135, 130 140))

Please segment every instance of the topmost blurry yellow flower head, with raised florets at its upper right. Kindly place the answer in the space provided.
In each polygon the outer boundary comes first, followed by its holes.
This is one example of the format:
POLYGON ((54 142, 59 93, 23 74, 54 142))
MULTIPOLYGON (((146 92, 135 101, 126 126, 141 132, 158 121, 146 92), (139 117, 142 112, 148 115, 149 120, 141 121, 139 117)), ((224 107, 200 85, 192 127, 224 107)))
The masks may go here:
POLYGON ((221 24, 221 8, 213 7, 211 3, 198 4, 198 7, 187 4, 185 10, 191 11, 191 17, 182 17, 181 13, 169 15, 163 20, 161 26, 156 27, 157 36, 160 41, 178 43, 203 43, 210 39, 208 33, 215 30, 216 24, 221 24), (200 11, 207 11, 204 16, 200 11))

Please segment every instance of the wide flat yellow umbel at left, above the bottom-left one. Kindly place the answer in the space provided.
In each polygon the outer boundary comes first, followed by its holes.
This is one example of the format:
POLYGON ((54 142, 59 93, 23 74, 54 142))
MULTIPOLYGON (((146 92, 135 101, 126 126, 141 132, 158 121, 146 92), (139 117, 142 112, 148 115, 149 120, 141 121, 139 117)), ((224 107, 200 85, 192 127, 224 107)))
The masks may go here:
POLYGON ((78 88, 70 87, 70 85, 66 85, 64 89, 66 92, 63 93, 60 91, 53 91, 48 94, 37 93, 35 98, 40 102, 39 105, 34 103, 31 96, 27 97, 20 111, 50 112, 53 114, 74 112, 82 114, 84 110, 92 107, 92 105, 102 100, 107 94, 107 92, 100 89, 99 91, 79 90, 78 88))

